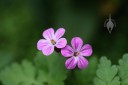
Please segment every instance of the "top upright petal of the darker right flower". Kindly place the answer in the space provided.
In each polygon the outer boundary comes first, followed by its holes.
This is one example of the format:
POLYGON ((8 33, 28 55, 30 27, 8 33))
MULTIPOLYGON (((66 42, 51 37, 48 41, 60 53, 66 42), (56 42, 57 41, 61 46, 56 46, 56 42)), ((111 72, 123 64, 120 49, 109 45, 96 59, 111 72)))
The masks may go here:
POLYGON ((74 50, 79 51, 83 45, 83 41, 80 37, 74 37, 71 41, 74 50))

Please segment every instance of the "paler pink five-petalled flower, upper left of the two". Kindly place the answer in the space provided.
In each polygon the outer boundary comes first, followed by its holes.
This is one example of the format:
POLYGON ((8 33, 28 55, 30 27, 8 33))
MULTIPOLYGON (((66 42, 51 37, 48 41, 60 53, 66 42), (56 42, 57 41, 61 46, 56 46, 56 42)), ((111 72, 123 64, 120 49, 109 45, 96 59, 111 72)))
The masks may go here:
POLYGON ((53 28, 49 28, 43 32, 45 39, 40 39, 37 43, 37 49, 41 50, 46 56, 53 53, 54 48, 63 48, 67 44, 65 38, 61 38, 65 33, 64 28, 59 28, 55 33, 53 28))

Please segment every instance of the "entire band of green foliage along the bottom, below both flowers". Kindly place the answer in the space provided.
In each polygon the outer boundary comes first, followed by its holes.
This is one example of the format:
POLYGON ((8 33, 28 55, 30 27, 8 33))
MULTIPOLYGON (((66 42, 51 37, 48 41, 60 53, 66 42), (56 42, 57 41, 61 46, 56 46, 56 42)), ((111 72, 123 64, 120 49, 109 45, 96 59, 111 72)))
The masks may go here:
POLYGON ((67 78, 64 62, 65 58, 58 53, 47 57, 39 52, 34 64, 23 60, 21 64, 13 63, 1 70, 0 81, 3 85, 93 85, 96 76, 94 85, 128 85, 128 54, 119 60, 118 66, 101 57, 98 69, 97 57, 91 57, 88 68, 69 72, 71 79, 67 78))

